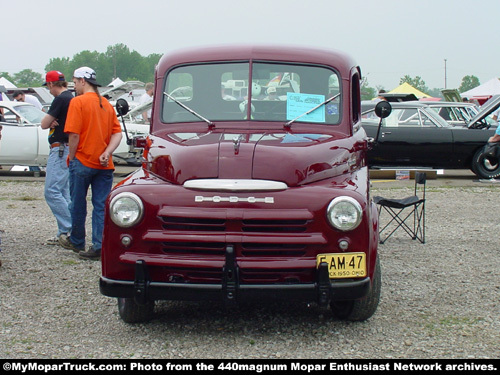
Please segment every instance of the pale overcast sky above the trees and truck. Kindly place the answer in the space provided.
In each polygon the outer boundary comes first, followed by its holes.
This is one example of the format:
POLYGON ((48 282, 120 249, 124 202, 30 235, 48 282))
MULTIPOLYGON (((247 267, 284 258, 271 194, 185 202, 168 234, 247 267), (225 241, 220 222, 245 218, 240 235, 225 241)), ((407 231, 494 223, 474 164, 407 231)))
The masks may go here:
MULTIPOLYGON (((351 55, 372 87, 500 77, 500 0, 0 0, 0 72, 123 43, 146 56, 188 46, 286 44, 351 55), (446 69, 445 69, 446 59, 446 69), (445 74, 446 72, 446 74, 445 74)), ((97 72, 99 75, 99 72, 97 72)))

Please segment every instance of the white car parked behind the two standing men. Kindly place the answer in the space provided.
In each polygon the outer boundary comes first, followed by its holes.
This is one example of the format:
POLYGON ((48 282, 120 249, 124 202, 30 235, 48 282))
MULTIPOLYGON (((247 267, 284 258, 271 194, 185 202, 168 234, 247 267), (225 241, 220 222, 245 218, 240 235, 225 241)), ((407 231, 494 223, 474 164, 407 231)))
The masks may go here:
MULTIPOLYGON (((0 113, 3 113, 0 116, 3 127, 0 165, 45 167, 49 157, 49 131, 42 129, 40 123, 46 113, 32 104, 13 101, 0 101, 0 113)), ((135 135, 143 134, 136 132, 135 135)), ((115 162, 137 165, 140 163, 141 153, 142 149, 134 149, 127 144, 127 136, 123 134, 113 156, 115 162)))

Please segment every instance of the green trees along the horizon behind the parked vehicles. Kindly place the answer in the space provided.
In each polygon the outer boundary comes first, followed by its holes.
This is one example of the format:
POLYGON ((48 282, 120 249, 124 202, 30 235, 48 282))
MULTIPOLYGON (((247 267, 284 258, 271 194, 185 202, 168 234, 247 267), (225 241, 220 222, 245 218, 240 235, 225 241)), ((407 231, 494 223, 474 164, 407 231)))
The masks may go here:
MULTIPOLYGON (((124 44, 115 44, 109 46, 106 52, 82 51, 69 57, 55 57, 50 59, 45 65, 45 71, 58 70, 62 72, 66 79, 72 77, 75 69, 81 66, 89 66, 97 73, 97 80, 102 85, 107 85, 113 79, 119 77, 123 81, 138 80, 142 82, 152 82, 154 79, 154 69, 162 54, 152 53, 148 56, 142 56, 137 51, 130 51, 124 44)), ((45 81, 45 76, 24 69, 13 75, 0 72, 0 77, 5 77, 17 87, 38 87, 45 81)), ((410 77, 405 75, 399 81, 399 84, 409 83, 416 89, 434 97, 442 97, 441 89, 430 89, 425 81, 420 77, 410 77)), ((458 88, 459 92, 465 92, 479 86, 479 79, 476 76, 468 75, 462 78, 462 83, 458 88)), ((370 87, 365 79, 361 87, 361 96, 363 100, 370 100, 377 96, 378 92, 384 89, 382 86, 370 87)))

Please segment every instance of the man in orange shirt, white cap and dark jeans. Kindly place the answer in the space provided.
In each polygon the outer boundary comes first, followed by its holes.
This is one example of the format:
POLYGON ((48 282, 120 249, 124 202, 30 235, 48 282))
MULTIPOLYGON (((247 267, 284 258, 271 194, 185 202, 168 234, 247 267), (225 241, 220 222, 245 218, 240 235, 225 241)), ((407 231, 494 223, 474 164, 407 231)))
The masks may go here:
POLYGON ((69 178, 71 194, 71 235, 59 237, 66 249, 83 259, 100 259, 104 229, 104 205, 113 185, 113 151, 122 131, 111 104, 99 95, 95 71, 75 70, 77 96, 70 102, 64 131, 69 134, 69 178), (87 192, 92 187, 92 246, 85 251, 87 192))

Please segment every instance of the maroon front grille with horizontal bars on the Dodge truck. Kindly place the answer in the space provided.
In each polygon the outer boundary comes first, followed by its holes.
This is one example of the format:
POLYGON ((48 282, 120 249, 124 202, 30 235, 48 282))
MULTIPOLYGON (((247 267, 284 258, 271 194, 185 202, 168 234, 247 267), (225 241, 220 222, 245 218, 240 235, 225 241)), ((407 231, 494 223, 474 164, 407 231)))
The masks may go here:
POLYGON ((165 254, 225 256, 227 244, 237 259, 299 258, 311 256, 324 244, 321 233, 311 233, 308 210, 203 210, 168 207, 160 212, 162 251, 165 254), (308 254, 310 252, 310 254, 308 254))

